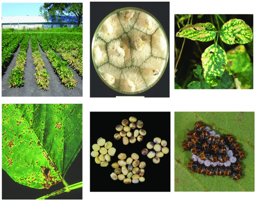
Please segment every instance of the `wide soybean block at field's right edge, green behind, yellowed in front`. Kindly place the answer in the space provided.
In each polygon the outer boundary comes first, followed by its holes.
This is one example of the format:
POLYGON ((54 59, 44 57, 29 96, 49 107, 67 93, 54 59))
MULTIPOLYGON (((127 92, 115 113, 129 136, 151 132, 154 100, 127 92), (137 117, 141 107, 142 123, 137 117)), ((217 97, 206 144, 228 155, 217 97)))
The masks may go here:
POLYGON ((57 33, 48 35, 47 40, 52 49, 61 53, 64 60, 83 75, 82 60, 82 34, 81 33, 57 33))

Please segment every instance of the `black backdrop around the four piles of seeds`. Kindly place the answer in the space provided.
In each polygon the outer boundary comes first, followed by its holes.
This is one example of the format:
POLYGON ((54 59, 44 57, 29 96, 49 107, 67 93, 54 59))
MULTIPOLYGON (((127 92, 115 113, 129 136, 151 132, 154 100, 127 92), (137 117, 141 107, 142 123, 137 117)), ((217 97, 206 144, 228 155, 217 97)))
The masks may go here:
MULTIPOLYGON (((155 137, 167 141, 167 146, 170 149, 170 112, 91 112, 90 113, 90 152, 93 151, 92 145, 97 144, 99 138, 104 138, 111 141, 113 147, 116 148, 116 153, 111 156, 111 161, 107 167, 101 167, 95 163, 94 157, 90 156, 90 191, 91 192, 115 192, 115 191, 171 191, 171 160, 170 152, 160 158, 160 163, 155 164, 152 159, 143 156, 141 151, 146 148, 146 144, 153 141, 155 137), (137 120, 143 121, 143 129, 146 130, 146 135, 143 136, 143 141, 137 141, 134 144, 129 142, 128 145, 123 145, 122 137, 119 140, 114 139, 116 125, 121 124, 123 119, 129 119, 130 116, 135 116, 137 120), (139 155, 139 161, 146 162, 144 182, 137 184, 124 184, 120 180, 112 180, 110 174, 114 172, 111 167, 112 163, 117 162, 118 154, 125 153, 127 158, 131 157, 132 153, 139 155)), ((133 132, 134 130, 132 130, 133 132)), ((89 153, 88 153, 89 154, 89 153)), ((126 158, 126 159, 127 159, 126 158)), ((125 160, 126 160, 125 159, 125 160)), ((127 165, 126 165, 127 167, 127 165)))

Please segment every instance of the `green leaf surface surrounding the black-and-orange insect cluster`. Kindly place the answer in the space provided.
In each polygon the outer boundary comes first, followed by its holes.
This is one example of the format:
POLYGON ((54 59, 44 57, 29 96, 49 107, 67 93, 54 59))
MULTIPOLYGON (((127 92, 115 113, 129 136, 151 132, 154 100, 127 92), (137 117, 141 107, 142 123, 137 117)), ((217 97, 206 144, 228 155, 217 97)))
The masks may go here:
POLYGON ((254 112, 175 112, 175 191, 254 191, 254 112), (196 121, 202 121, 221 136, 233 135, 244 151, 242 178, 234 181, 229 177, 205 176, 188 168, 192 158, 190 151, 181 146, 188 130, 196 121))

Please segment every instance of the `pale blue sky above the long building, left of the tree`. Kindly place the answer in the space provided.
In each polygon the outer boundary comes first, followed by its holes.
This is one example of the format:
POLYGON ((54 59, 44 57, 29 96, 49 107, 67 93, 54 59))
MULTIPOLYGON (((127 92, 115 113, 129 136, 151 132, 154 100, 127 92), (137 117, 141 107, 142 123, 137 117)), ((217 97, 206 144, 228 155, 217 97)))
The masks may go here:
POLYGON ((39 15, 39 8, 44 3, 2 3, 3 16, 39 15))

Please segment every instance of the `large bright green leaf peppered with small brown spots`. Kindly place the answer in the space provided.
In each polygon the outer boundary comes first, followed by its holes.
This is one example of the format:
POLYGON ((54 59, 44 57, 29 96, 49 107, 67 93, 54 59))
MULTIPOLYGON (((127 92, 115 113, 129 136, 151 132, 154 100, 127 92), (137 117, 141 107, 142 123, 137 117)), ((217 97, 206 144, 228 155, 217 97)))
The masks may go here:
POLYGON ((49 189, 81 147, 81 104, 2 105, 2 168, 14 181, 49 189))

